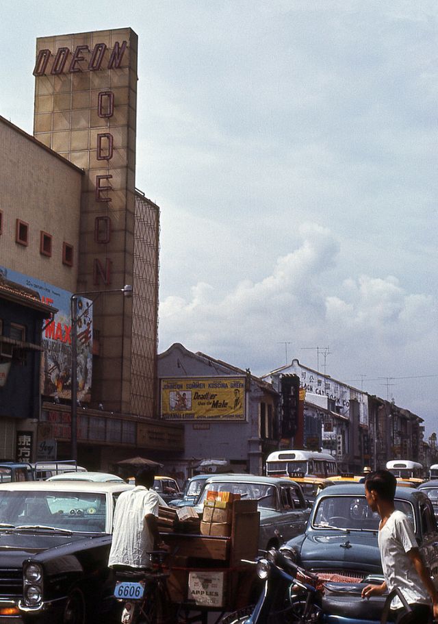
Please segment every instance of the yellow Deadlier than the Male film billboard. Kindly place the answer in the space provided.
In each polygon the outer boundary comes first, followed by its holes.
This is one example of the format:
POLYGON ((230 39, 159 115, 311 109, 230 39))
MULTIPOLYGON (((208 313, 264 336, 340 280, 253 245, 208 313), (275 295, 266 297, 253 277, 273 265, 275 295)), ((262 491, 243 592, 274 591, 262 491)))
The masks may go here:
POLYGON ((162 379, 162 418, 243 421, 245 378, 162 379))

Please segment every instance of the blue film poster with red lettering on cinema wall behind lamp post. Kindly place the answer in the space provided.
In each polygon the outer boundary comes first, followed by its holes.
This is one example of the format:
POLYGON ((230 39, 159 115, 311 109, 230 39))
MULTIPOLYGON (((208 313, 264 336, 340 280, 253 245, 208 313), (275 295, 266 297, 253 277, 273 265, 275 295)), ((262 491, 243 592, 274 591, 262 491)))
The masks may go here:
MULTIPOLYGON (((43 303, 53 305, 58 312, 55 319, 42 333, 42 395, 60 399, 71 397, 71 292, 57 288, 41 279, 29 277, 0 266, 0 273, 6 279, 21 286, 36 290, 43 303)), ((77 398, 90 401, 92 373, 92 301, 77 299, 77 398)))

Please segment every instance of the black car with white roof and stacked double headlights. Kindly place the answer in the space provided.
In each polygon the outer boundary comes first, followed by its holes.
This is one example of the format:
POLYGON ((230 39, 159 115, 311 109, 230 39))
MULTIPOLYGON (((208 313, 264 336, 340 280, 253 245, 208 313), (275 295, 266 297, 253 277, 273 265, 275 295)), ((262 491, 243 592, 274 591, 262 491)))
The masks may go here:
POLYGON ((118 495, 129 488, 66 481, 0 484, 0 606, 10 616, 5 621, 83 623, 114 607, 107 567, 112 516, 118 495))

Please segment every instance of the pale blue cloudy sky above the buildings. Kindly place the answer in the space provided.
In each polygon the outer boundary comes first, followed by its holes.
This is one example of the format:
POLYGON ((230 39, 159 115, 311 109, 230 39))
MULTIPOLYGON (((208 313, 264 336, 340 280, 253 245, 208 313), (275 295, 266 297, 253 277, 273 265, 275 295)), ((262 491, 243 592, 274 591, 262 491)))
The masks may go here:
POLYGON ((437 431, 435 0, 1 10, 0 114, 29 133, 37 37, 139 36, 136 185, 162 211, 160 351, 182 342, 263 374, 286 347, 313 368, 304 347, 330 347, 329 375, 437 431))

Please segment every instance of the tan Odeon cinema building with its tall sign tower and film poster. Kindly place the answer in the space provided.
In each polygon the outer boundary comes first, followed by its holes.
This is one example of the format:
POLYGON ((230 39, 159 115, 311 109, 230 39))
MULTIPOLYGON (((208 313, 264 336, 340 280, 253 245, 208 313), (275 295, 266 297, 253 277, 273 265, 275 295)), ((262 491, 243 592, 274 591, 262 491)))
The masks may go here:
POLYGON ((0 273, 57 312, 42 326, 38 414, 16 414, 0 386, 0 454, 15 459, 27 432, 32 460, 70 457, 76 305, 78 462, 166 458, 183 434, 155 418, 159 208, 136 188, 137 36, 40 38, 34 75, 34 136, 0 118, 0 273))

